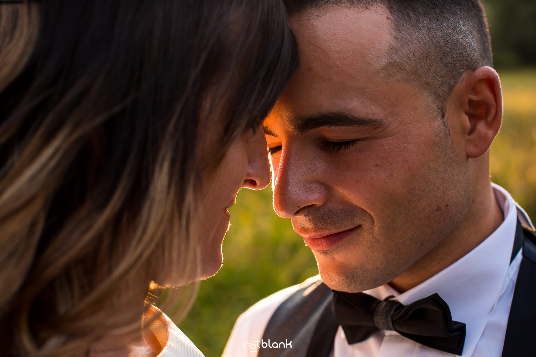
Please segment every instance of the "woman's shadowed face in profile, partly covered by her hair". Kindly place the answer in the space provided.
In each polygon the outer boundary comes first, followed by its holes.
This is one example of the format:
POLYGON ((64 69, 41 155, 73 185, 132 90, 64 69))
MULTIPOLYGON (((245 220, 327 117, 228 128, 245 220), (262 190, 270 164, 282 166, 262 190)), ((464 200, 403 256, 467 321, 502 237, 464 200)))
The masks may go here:
POLYGON ((204 211, 199 217, 201 275, 205 279, 216 274, 223 256, 221 244, 229 227, 236 194, 242 187, 263 189, 270 183, 270 164, 265 135, 257 126, 248 130, 230 146, 214 176, 205 187, 204 211))

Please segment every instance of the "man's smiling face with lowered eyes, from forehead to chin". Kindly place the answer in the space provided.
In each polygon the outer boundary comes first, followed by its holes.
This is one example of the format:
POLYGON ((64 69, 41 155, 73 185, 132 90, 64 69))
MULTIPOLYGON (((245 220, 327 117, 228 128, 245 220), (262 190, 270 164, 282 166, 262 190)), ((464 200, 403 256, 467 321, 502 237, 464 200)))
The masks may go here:
POLYGON ((390 21, 380 7, 291 18, 300 68, 264 125, 274 208, 335 290, 397 277, 470 200, 465 151, 430 97, 385 74, 390 21))

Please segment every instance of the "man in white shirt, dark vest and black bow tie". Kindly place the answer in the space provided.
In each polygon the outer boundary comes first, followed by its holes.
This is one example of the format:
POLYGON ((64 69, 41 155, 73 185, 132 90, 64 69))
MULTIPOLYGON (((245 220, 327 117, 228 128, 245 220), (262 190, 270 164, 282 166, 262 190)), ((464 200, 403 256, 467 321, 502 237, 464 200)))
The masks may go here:
POLYGON ((273 202, 322 280, 251 307, 224 356, 536 355, 533 226, 489 179, 502 96, 478 0, 287 7, 300 67, 264 125, 273 202))

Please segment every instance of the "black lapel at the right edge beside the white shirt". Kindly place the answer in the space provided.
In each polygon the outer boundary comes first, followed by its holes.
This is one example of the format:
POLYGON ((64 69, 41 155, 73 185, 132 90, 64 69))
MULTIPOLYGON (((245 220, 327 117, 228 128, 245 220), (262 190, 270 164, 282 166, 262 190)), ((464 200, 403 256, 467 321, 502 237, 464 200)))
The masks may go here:
POLYGON ((536 236, 528 230, 522 233, 523 260, 513 292, 502 357, 536 356, 536 236))

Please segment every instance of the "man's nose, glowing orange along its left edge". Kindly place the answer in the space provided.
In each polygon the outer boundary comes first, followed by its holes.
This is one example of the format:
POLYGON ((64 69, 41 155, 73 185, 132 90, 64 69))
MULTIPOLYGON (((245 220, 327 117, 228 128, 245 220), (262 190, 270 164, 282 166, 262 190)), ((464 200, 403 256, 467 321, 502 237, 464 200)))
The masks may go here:
POLYGON ((273 207, 280 217, 292 218, 305 207, 322 206, 327 186, 322 183, 318 157, 307 150, 281 150, 273 172, 273 207))

